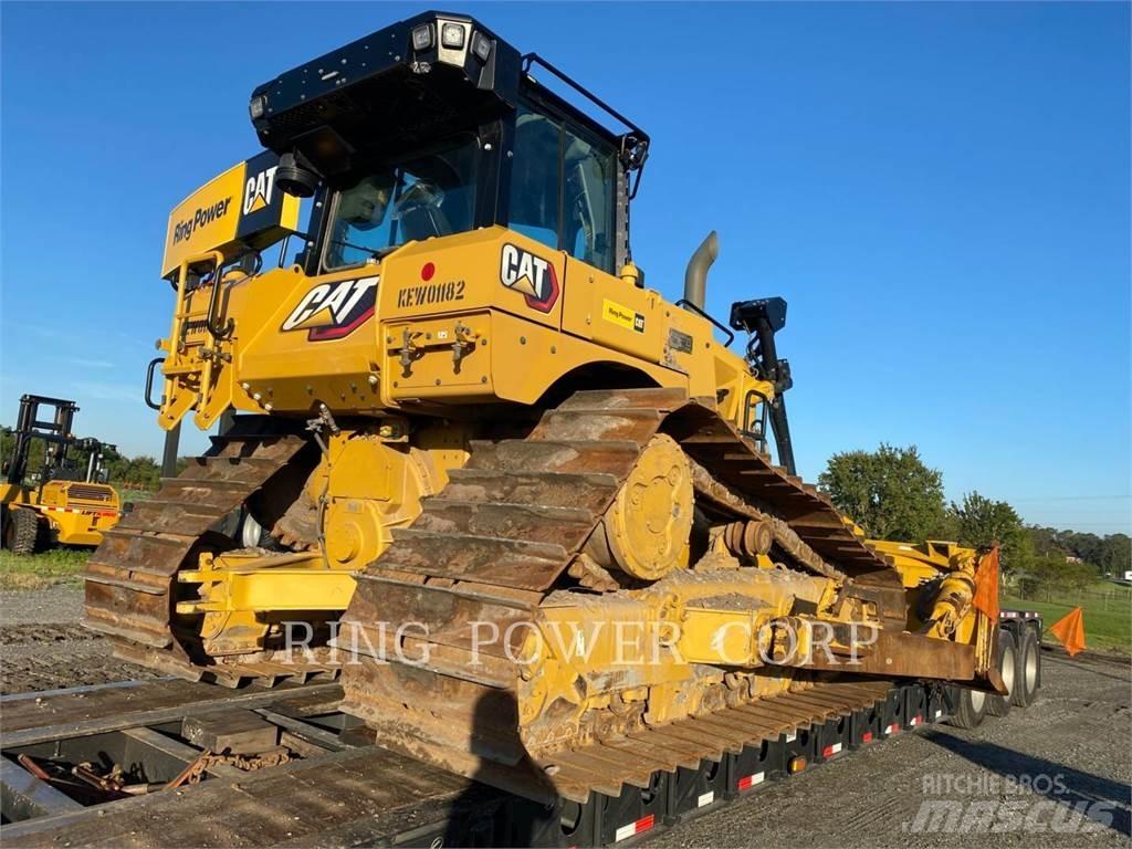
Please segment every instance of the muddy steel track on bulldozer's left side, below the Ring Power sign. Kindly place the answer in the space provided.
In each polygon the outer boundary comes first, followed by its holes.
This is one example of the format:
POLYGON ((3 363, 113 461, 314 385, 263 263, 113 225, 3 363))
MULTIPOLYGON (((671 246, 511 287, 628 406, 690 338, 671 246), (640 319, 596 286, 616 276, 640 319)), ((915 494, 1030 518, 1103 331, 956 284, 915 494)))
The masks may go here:
POLYGON ((177 573, 207 546, 209 530, 272 478, 307 445, 302 436, 280 432, 261 417, 240 417, 212 448, 189 462, 177 478, 165 478, 156 495, 139 501, 103 542, 84 572, 83 625, 105 635, 114 654, 139 666, 190 680, 206 678, 229 686, 247 679, 273 684, 333 675, 323 666, 284 669, 278 664, 216 662, 201 666, 186 645, 173 617, 177 573), (180 638, 179 638, 180 637, 180 638))

